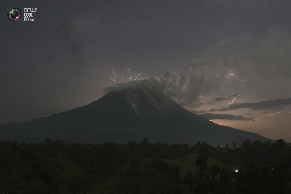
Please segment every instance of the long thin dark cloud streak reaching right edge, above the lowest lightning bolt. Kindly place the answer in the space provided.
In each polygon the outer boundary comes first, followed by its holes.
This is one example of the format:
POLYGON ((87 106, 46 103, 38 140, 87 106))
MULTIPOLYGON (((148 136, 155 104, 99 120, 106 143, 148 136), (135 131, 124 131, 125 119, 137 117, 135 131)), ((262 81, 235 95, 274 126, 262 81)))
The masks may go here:
POLYGON ((250 108, 252 110, 268 110, 268 109, 282 109, 283 106, 291 105, 291 98, 287 99, 276 99, 261 101, 255 103, 239 103, 239 104, 230 104, 225 108, 211 109, 211 112, 215 111, 230 111, 237 110, 240 108, 250 108))

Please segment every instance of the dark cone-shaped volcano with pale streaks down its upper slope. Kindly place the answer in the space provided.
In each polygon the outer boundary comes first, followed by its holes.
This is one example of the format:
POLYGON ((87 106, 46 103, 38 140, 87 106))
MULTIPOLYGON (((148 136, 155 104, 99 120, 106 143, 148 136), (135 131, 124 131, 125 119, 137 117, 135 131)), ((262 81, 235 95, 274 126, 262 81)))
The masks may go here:
POLYGON ((108 93, 86 106, 52 114, 24 123, 0 125, 0 140, 42 142, 54 140, 75 143, 141 141, 188 143, 206 141, 210 145, 246 139, 271 139, 227 126, 220 126, 195 115, 161 92, 148 87, 129 87, 108 93))

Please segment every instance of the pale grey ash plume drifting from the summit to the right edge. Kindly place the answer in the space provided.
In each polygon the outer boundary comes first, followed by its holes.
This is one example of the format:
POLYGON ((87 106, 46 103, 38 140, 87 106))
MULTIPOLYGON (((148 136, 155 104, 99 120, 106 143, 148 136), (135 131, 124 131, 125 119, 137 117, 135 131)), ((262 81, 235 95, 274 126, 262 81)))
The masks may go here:
MULTIPOLYGON (((198 53, 185 63, 182 72, 167 71, 164 93, 182 106, 195 106, 211 96, 216 102, 235 97, 243 100, 247 93, 260 98, 270 96, 272 90, 288 96, 290 91, 285 88, 291 87, 290 52, 291 36, 280 27, 269 29, 259 38, 235 36, 198 53), (245 85, 232 76, 226 77, 229 73, 244 80, 245 85), (278 82, 286 86, 278 88, 278 82)), ((270 98, 278 98, 272 95, 270 98)), ((236 104, 229 110, 242 106, 236 104)), ((252 108, 253 104, 244 106, 252 108)))

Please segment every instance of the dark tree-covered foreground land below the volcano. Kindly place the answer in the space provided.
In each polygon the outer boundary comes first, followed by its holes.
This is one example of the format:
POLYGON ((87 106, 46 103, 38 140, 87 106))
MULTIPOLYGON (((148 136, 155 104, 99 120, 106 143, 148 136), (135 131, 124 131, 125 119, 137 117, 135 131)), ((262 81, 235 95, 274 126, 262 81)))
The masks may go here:
POLYGON ((0 193, 291 193, 291 147, 0 141, 0 193))

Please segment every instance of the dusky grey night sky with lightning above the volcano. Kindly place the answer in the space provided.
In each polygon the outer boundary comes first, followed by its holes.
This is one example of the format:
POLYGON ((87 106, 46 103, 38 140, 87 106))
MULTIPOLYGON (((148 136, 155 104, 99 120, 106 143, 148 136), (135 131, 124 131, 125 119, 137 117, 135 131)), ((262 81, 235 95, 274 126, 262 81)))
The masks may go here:
POLYGON ((291 141, 290 0, 27 0, 0 10, 0 123, 96 101, 117 83, 109 67, 119 82, 130 67, 215 123, 291 141), (9 22, 11 6, 37 8, 34 21, 9 22))

